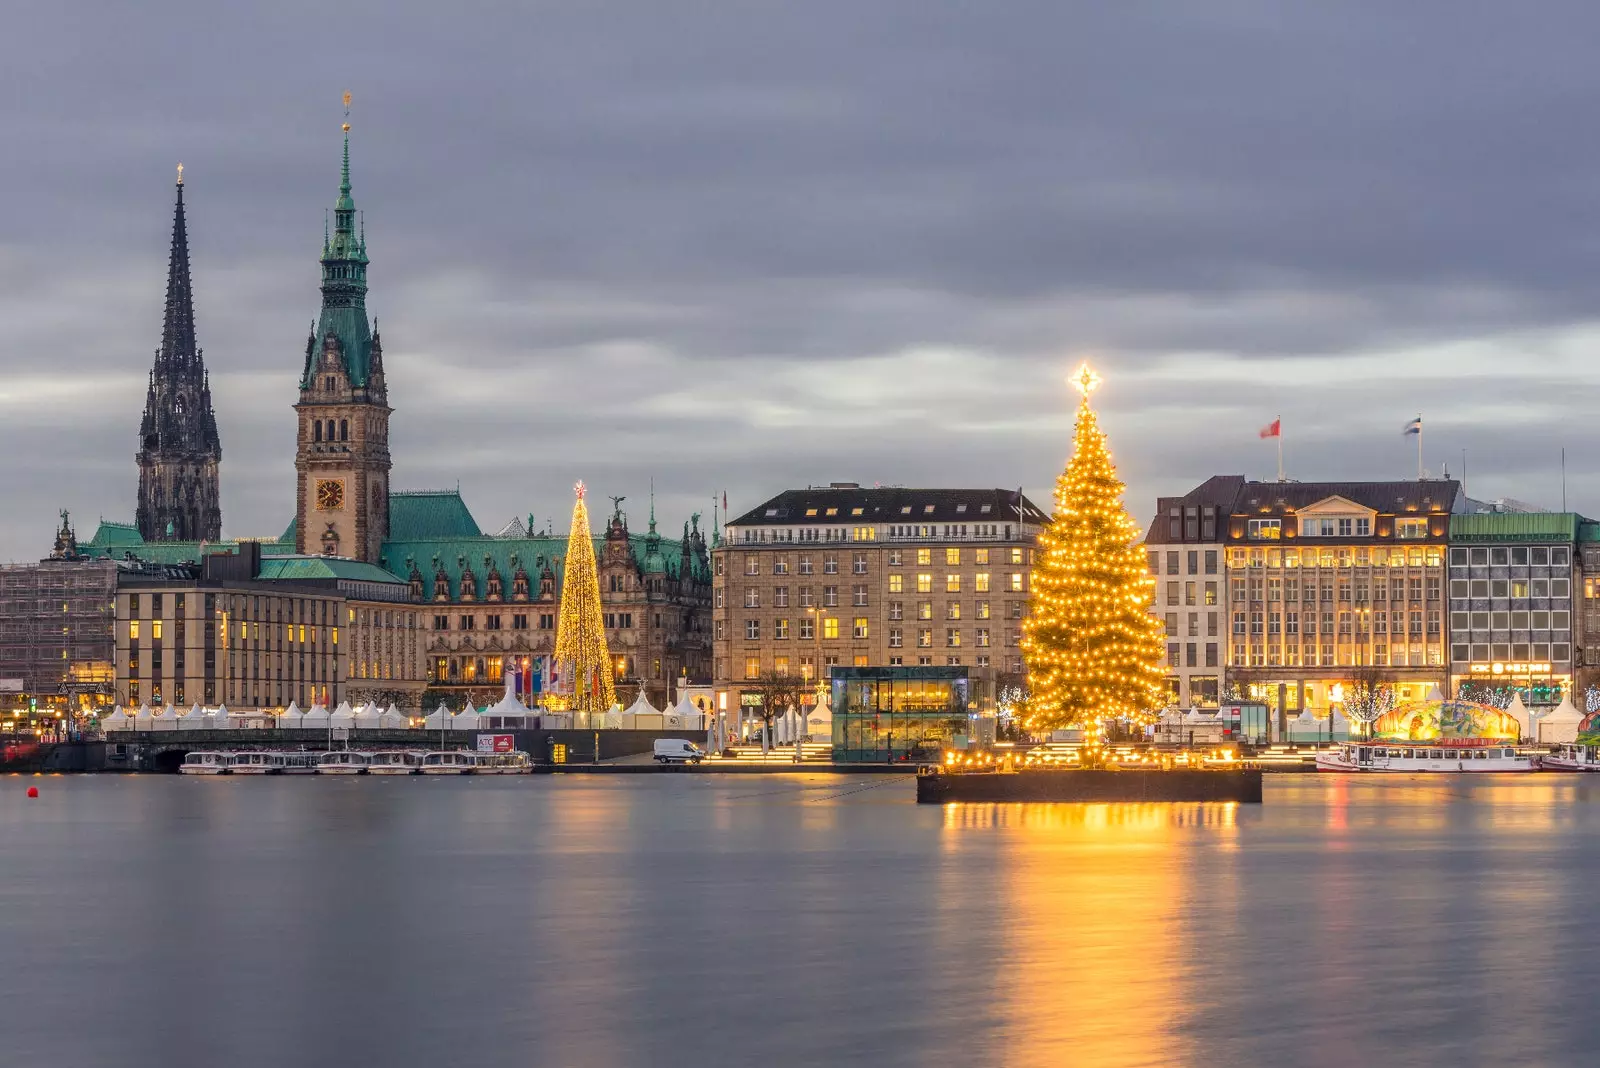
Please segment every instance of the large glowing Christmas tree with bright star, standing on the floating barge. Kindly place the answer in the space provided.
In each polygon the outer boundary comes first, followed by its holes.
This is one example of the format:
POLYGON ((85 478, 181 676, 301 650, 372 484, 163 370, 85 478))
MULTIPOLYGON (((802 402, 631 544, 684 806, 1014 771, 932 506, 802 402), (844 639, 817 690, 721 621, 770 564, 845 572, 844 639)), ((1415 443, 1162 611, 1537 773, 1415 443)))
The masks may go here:
POLYGON ((1034 550, 1022 624, 1030 729, 1082 726, 1093 745, 1104 723, 1146 719, 1160 707, 1162 624, 1152 582, 1122 507, 1122 480, 1090 408, 1099 377, 1083 365, 1072 459, 1056 480, 1056 513, 1034 550))

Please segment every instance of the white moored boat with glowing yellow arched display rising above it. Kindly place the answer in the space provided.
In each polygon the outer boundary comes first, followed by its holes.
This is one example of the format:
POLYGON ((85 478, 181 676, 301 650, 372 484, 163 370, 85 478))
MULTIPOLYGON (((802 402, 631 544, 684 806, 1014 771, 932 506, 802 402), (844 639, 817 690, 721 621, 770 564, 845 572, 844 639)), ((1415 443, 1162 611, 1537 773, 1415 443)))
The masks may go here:
POLYGON ((1469 700, 1400 705, 1373 721, 1370 742, 1342 742, 1317 753, 1317 771, 1458 774, 1538 771, 1533 753, 1517 748, 1515 716, 1469 700))

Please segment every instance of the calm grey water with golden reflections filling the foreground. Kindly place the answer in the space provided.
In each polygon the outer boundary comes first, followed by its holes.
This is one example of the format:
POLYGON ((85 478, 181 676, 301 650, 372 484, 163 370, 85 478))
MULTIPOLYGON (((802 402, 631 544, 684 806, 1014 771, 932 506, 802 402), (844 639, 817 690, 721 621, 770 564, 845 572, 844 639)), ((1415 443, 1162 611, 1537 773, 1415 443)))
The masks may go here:
POLYGON ((1565 775, 0 777, 0 1065, 1597 1065, 1597 910, 1565 775))

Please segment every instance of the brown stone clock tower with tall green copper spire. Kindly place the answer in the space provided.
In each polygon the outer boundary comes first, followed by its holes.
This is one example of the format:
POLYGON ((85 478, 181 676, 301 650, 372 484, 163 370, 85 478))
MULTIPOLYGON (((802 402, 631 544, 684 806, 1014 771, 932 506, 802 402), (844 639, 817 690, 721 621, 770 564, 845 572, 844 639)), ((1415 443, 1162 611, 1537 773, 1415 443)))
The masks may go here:
MULTIPOLYGON (((349 94, 346 94, 349 106, 349 94)), ((294 452, 294 552, 376 563, 389 536, 389 392, 382 345, 366 323, 366 227, 344 169, 323 230, 322 315, 306 341, 294 452)))

